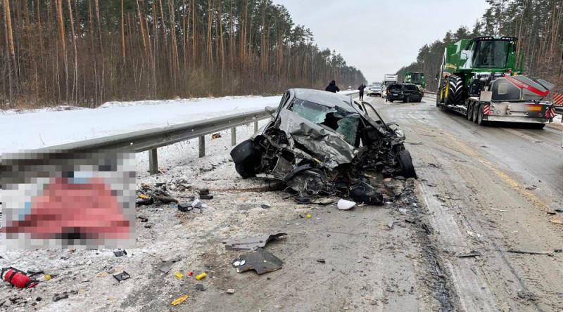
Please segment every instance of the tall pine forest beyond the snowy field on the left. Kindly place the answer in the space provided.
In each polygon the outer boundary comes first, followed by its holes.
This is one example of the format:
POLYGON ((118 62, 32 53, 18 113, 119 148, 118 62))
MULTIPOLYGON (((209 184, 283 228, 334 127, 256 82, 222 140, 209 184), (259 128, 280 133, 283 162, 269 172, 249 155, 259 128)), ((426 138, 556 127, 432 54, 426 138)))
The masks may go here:
POLYGON ((272 0, 0 0, 0 108, 365 82, 272 0))

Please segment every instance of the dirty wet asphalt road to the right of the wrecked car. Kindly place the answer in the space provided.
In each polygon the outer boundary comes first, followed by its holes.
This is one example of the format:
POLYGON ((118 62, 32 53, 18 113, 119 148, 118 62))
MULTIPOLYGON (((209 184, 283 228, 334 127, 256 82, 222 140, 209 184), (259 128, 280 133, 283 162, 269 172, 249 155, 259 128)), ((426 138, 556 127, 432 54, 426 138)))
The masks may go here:
POLYGON ((453 306, 562 311, 561 128, 479 126, 429 97, 367 100, 405 130, 453 306))

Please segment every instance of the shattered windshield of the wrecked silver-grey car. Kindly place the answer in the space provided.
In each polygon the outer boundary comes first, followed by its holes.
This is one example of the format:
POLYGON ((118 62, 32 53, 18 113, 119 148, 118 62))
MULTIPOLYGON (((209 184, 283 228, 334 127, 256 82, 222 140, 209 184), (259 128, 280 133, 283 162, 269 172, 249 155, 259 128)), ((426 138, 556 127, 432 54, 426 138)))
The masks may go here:
POLYGON ((293 100, 288 109, 325 129, 336 131, 348 144, 358 145, 356 143, 358 124, 360 123, 358 113, 348 112, 338 106, 329 108, 299 98, 293 100))

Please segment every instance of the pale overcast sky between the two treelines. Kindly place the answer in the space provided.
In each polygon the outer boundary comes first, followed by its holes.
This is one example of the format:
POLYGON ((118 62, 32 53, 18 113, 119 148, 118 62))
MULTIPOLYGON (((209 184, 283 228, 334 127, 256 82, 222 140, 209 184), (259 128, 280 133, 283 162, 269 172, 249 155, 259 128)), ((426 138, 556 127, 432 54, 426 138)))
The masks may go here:
MULTIPOLYGON (((417 58, 419 48, 448 30, 471 28, 485 13, 485 0, 274 0, 305 25, 320 48, 341 53, 369 83, 381 82, 417 58)), ((436 69, 436 72, 438 69, 436 69)), ((426 77, 432 77, 426 73, 426 77)), ((337 82, 338 84, 338 82, 337 82)))

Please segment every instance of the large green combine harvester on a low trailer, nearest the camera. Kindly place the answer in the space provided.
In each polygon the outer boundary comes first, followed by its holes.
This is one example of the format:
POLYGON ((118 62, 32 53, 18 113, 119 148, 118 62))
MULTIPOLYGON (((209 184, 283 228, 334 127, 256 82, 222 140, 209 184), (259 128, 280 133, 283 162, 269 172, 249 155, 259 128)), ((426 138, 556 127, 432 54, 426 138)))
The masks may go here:
POLYGON ((436 106, 472 122, 523 122, 541 129, 555 117, 544 101, 553 84, 522 75, 516 37, 462 39, 445 48, 436 106))

